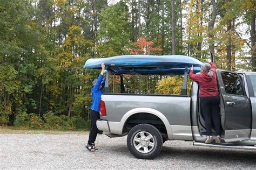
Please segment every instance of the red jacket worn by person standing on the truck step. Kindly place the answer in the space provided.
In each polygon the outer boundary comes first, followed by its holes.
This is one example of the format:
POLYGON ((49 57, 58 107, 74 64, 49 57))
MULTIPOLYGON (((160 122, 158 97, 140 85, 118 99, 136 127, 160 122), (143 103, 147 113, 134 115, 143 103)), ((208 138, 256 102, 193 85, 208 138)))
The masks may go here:
POLYGON ((209 77, 208 72, 194 74, 193 70, 190 70, 190 79, 197 81, 199 83, 200 93, 199 97, 210 97, 210 96, 218 96, 219 91, 217 88, 217 79, 216 79, 216 69, 217 67, 213 62, 210 62, 212 67, 211 71, 213 72, 213 76, 209 77))

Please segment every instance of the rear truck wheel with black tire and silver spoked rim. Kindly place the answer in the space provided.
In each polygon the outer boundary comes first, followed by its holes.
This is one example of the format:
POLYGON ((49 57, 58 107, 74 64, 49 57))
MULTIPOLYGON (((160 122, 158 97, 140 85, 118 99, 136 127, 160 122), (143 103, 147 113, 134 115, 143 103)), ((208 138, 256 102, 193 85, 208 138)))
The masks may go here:
POLYGON ((127 136, 127 146, 130 152, 135 157, 139 159, 153 159, 161 151, 161 148, 163 146, 163 138, 159 130, 154 126, 150 124, 139 124, 137 126, 134 126, 130 130, 127 136), (140 135, 140 134, 143 134, 143 135, 140 135), (149 135, 146 136, 147 134, 149 135), (135 141, 138 139, 140 140, 135 141), (137 149, 136 149, 136 146, 137 146, 137 149))

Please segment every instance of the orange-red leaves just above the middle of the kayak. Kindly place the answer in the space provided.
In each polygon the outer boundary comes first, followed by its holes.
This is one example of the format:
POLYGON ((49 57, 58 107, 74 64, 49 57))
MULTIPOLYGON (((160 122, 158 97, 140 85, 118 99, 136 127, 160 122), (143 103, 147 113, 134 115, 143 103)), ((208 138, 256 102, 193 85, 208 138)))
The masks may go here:
POLYGON ((163 51, 161 47, 155 47, 153 41, 147 41, 145 37, 140 37, 137 42, 134 42, 136 48, 130 48, 129 51, 131 54, 152 54, 163 51))

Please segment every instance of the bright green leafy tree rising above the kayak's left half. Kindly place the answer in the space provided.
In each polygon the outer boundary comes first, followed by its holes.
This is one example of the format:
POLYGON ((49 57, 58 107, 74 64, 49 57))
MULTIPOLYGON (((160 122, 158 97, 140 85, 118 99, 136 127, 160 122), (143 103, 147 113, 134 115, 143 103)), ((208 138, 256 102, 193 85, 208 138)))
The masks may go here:
POLYGON ((124 2, 109 6, 100 13, 99 57, 128 54, 131 43, 129 17, 129 9, 124 2))

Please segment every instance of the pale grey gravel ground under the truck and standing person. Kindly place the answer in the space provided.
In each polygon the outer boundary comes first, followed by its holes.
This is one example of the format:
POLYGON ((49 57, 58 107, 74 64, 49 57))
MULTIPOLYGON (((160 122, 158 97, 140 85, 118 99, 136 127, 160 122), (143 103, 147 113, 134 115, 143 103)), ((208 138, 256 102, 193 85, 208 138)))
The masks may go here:
POLYGON ((39 169, 256 169, 256 151, 193 146, 166 141, 153 160, 133 157, 126 137, 97 137, 96 152, 85 148, 86 134, 0 134, 0 168, 39 169))

